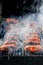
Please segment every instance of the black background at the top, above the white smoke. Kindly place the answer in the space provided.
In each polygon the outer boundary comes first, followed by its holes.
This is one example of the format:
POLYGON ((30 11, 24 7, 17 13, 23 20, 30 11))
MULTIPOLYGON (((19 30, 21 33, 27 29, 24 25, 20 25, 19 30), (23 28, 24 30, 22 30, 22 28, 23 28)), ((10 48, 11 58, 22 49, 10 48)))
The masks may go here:
POLYGON ((39 12, 41 0, 4 0, 2 6, 2 17, 10 15, 23 16, 25 14, 39 12))

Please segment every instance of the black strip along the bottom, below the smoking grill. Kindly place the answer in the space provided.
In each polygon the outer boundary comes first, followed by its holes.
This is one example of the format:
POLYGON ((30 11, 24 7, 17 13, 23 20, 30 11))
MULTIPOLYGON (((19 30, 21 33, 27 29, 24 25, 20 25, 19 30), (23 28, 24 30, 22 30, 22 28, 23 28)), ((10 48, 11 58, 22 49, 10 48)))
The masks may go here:
POLYGON ((43 65, 43 56, 0 57, 0 65, 43 65))

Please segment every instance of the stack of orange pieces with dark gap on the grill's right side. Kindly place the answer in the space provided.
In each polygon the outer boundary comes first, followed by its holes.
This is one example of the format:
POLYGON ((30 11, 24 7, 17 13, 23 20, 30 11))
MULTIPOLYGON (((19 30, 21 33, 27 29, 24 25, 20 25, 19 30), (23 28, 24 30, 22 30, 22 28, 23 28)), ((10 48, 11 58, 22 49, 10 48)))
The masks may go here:
POLYGON ((41 51, 42 47, 40 46, 40 38, 36 33, 33 33, 31 37, 28 37, 25 39, 24 44, 24 50, 30 51, 30 52, 36 52, 41 51))

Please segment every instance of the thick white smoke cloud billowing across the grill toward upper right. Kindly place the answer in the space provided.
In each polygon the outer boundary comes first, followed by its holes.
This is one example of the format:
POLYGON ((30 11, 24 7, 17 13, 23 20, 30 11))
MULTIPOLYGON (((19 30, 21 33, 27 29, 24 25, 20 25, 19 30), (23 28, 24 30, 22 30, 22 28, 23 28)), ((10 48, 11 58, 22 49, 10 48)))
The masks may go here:
MULTIPOLYGON (((39 30, 39 28, 43 28, 43 3, 37 9, 40 10, 39 13, 33 13, 25 15, 23 17, 19 17, 20 22, 18 24, 10 24, 10 30, 6 32, 3 43, 15 40, 17 48, 9 47, 8 54, 15 54, 15 52, 20 48, 22 48, 23 51, 23 41, 25 37, 29 36, 32 32, 36 32, 37 30, 39 30), (31 24, 34 24, 33 27, 31 26, 31 24)), ((38 31, 38 33, 40 33, 40 31, 38 31)), ((41 44, 42 42, 43 41, 41 41, 41 44)), ((0 43, 2 44, 2 40, 0 43)))

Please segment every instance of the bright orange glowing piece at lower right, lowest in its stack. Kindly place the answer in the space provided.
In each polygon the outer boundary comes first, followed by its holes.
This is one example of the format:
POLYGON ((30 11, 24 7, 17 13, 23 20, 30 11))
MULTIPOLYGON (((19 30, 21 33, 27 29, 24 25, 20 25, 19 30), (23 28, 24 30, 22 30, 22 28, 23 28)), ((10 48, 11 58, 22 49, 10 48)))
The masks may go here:
POLYGON ((30 52, 41 51, 42 47, 40 45, 28 45, 24 47, 25 50, 30 52))

